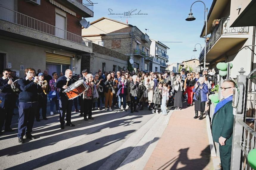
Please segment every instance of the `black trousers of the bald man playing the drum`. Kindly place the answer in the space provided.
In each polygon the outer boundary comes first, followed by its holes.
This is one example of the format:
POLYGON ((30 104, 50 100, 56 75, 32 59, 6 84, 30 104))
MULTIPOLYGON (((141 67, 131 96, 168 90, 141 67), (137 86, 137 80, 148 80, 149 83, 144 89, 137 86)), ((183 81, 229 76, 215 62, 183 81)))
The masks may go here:
POLYGON ((67 123, 71 123, 71 111, 73 100, 68 100, 66 96, 60 96, 60 125, 64 125, 65 113, 67 123))

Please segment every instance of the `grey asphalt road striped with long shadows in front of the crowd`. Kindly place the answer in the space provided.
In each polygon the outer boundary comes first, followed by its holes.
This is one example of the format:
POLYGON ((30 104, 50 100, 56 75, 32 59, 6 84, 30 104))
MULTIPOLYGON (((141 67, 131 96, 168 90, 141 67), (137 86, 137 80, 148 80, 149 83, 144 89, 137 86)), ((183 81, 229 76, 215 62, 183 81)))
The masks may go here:
MULTIPOLYGON (((48 120, 34 123, 32 134, 37 139, 25 139, 24 144, 18 143, 18 114, 13 116, 15 132, 0 136, 0 169, 116 169, 161 115, 147 108, 138 113, 97 110, 94 120, 84 121, 73 112, 76 126, 64 130, 58 114, 47 116, 48 120)), ((148 138, 143 145, 158 139, 148 138)))

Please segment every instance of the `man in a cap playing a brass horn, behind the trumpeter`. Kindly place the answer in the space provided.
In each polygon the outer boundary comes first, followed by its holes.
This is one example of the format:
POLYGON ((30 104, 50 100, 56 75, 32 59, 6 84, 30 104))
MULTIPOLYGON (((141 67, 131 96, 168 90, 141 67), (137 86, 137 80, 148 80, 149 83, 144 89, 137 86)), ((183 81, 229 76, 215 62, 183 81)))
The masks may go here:
POLYGON ((40 122, 40 108, 42 107, 42 116, 43 120, 48 120, 46 117, 46 106, 47 106, 47 92, 48 92, 48 83, 44 79, 44 74, 38 74, 38 85, 42 88, 42 92, 38 93, 38 110, 35 115, 36 121, 40 122))

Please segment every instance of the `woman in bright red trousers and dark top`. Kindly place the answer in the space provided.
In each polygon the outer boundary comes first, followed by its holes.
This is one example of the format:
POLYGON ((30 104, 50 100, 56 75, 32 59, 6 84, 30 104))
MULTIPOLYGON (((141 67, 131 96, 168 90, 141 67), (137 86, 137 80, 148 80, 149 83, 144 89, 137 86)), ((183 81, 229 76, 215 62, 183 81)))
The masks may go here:
POLYGON ((183 95, 185 95, 186 93, 188 94, 187 106, 192 106, 193 88, 195 84, 196 84, 196 81, 193 80, 192 74, 188 73, 188 77, 185 79, 185 83, 184 83, 185 92, 183 93, 183 95))

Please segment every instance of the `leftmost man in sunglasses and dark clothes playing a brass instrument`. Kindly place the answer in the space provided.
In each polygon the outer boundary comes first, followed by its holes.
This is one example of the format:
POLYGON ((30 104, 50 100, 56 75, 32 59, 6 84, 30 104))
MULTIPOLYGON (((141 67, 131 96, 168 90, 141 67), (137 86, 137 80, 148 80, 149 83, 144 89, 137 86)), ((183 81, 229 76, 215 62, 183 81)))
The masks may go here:
POLYGON ((11 75, 10 69, 4 69, 3 77, 0 78, 0 135, 2 134, 2 127, 5 125, 5 132, 13 132, 14 130, 10 128, 12 118, 13 118, 13 109, 15 105, 15 94, 11 88, 13 83, 12 79, 8 79, 11 75), (5 120, 5 123, 4 123, 5 120))

